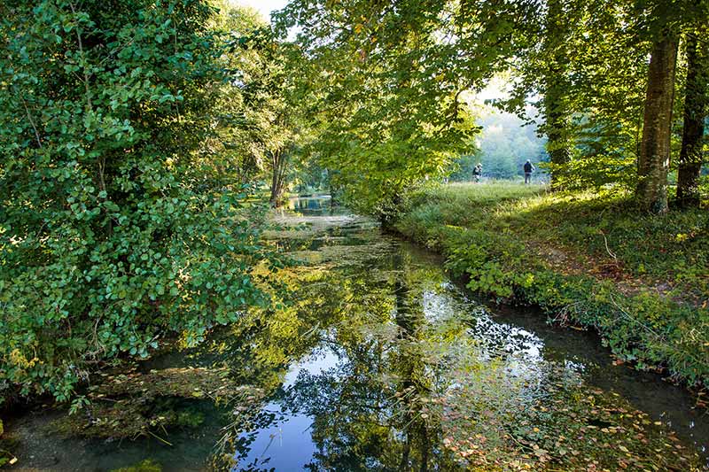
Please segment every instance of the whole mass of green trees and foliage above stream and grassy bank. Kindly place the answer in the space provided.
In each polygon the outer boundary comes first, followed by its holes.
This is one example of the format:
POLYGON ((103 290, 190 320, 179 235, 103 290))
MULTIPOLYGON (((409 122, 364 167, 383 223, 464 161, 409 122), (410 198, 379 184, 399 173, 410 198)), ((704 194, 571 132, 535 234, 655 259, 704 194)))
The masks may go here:
POLYGON ((553 190, 666 213, 676 171, 682 205, 705 199, 707 0, 292 0, 273 25, 224 0, 0 14, 10 393, 68 398, 91 363, 262 305, 267 188, 271 205, 337 190, 386 222, 424 182, 549 158, 553 190), (465 99, 500 75, 517 120, 465 99))

